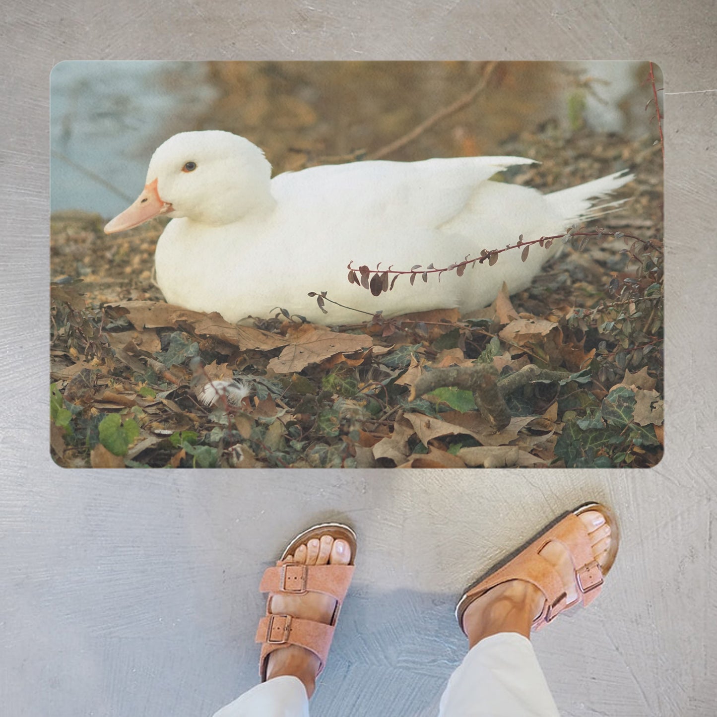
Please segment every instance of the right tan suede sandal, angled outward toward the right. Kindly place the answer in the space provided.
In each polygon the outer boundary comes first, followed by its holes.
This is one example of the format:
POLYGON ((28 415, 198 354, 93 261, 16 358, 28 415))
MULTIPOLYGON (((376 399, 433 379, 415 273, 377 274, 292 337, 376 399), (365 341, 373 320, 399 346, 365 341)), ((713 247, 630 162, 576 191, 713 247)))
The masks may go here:
POLYGON ((599 503, 585 503, 571 513, 565 513, 550 523, 546 528, 521 546, 518 551, 509 555, 487 574, 475 581, 463 593, 455 608, 455 617, 460 629, 463 627, 463 615, 467 607, 485 594, 492 587, 508 580, 526 580, 533 583, 545 595, 545 604, 541 614, 533 620, 533 630, 540 630, 551 622, 564 609, 576 604, 587 605, 592 602, 602 588, 604 576, 614 563, 617 555, 619 534, 617 521, 612 511, 599 503), (602 513, 605 523, 610 526, 610 547, 607 560, 601 567, 593 559, 592 546, 588 540, 588 532, 577 516, 585 511, 602 513), (539 555, 550 541, 559 541, 569 552, 575 568, 575 587, 577 596, 568 604, 565 587, 561 577, 552 564, 539 555))

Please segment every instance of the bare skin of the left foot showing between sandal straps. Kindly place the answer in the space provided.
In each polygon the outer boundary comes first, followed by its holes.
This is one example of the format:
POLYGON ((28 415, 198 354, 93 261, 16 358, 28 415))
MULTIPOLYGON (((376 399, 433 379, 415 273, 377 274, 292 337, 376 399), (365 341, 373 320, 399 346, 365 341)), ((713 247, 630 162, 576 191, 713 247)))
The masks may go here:
MULTIPOLYGON (((311 538, 305 545, 300 545, 295 553, 286 556, 285 563, 302 565, 348 565, 351 562, 351 547, 346 541, 334 540, 331 536, 311 538)), ((314 622, 331 623, 336 609, 336 599, 318 592, 306 592, 300 595, 272 595, 269 602, 271 614, 291 615, 314 622)), ((319 660, 313 652, 298 645, 288 645, 275 650, 269 655, 267 663, 267 680, 280 675, 298 677, 310 697, 314 690, 319 660)))

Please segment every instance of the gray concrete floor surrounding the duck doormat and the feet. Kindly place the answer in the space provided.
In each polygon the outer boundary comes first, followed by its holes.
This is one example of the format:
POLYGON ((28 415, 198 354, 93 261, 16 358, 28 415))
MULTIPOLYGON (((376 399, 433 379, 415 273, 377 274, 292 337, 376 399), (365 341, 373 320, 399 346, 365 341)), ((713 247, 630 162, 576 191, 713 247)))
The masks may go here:
POLYGON ((710 2, 4 4, 0 28, 0 704, 209 716, 255 680, 262 569, 344 518, 358 571, 315 716, 435 713, 463 584, 554 513, 614 507, 589 610, 536 636, 564 715, 717 713, 710 2), (47 455, 47 78, 77 57, 652 59, 666 77, 668 446, 645 472, 69 471, 47 455), (275 505, 270 510, 269 505, 275 505))

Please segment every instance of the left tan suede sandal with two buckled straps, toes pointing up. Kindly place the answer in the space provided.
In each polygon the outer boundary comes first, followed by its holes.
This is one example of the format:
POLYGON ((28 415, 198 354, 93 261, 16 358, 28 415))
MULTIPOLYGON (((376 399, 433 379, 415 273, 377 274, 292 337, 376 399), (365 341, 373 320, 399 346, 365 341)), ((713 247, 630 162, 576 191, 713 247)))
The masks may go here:
POLYGON ((338 612, 348 586, 353 577, 353 561, 356 558, 356 533, 341 523, 320 523, 308 528, 293 541, 283 552, 281 559, 273 567, 267 568, 259 586, 260 592, 269 593, 267 598, 267 614, 259 622, 256 642, 262 643, 262 653, 259 659, 259 674, 262 682, 266 680, 267 663, 269 655, 274 650, 281 650, 288 645, 299 645, 310 650, 319 659, 318 676, 326 663, 333 631, 336 628, 338 612), (311 538, 331 536, 334 540, 343 540, 351 548, 351 562, 348 565, 304 565, 286 562, 288 555, 293 555, 296 549, 311 538), (292 615, 274 614, 270 612, 273 595, 289 594, 302 595, 307 592, 323 592, 336 599, 336 607, 331 616, 331 622, 299 619, 292 615))

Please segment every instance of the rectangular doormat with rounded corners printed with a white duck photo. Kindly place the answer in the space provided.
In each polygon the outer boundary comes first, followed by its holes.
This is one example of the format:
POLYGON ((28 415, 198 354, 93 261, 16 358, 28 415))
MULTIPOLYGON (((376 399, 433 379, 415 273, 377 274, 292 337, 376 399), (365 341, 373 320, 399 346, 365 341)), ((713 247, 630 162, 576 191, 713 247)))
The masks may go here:
POLYGON ((656 465, 661 90, 650 62, 61 62, 54 461, 656 465))

